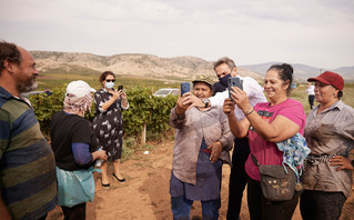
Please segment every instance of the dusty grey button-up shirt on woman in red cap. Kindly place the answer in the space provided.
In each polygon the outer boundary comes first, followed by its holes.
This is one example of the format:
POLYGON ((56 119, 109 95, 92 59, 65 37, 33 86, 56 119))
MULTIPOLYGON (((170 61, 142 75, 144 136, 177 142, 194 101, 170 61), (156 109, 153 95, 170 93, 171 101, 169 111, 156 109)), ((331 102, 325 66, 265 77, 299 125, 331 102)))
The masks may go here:
MULTIPOLYGON (((348 157, 354 148, 354 109, 342 100, 320 112, 318 106, 312 109, 306 119, 304 137, 312 156, 348 157)), ((352 171, 330 166, 328 160, 316 164, 306 162, 302 182, 306 190, 328 192, 342 191, 350 197, 352 191, 352 171)))

